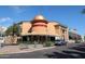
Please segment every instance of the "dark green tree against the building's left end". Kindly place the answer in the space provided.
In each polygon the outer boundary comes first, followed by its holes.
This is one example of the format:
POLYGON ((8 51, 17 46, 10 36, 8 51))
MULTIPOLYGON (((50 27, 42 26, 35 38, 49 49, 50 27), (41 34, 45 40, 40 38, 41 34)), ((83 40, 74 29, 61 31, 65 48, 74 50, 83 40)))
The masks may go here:
POLYGON ((5 30, 5 35, 19 35, 18 24, 14 24, 13 26, 10 26, 5 30))

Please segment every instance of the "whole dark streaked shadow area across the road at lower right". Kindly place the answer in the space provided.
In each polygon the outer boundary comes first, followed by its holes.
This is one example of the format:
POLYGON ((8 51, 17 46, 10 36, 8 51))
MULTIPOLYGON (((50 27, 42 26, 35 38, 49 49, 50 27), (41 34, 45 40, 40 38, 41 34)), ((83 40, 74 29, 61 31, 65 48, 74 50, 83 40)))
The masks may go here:
POLYGON ((61 52, 56 51, 45 55, 51 59, 85 59, 85 44, 68 49, 69 50, 62 50, 61 52))

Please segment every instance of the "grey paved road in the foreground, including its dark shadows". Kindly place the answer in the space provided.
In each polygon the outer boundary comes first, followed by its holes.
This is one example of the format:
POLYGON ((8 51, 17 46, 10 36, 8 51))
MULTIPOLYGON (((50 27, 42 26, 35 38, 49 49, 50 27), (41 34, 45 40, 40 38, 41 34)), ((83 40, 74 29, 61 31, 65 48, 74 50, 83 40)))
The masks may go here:
POLYGON ((84 59, 85 43, 69 43, 68 46, 58 46, 52 49, 0 55, 0 59, 84 59))

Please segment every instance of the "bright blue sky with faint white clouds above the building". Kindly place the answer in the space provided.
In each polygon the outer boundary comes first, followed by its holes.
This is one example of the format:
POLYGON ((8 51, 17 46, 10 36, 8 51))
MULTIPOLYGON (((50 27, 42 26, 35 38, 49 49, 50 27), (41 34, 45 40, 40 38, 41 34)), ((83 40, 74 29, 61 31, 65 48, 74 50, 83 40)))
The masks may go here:
POLYGON ((59 22, 77 34, 85 35, 84 5, 0 5, 0 26, 9 27, 13 23, 34 18, 43 15, 49 22, 59 22))

